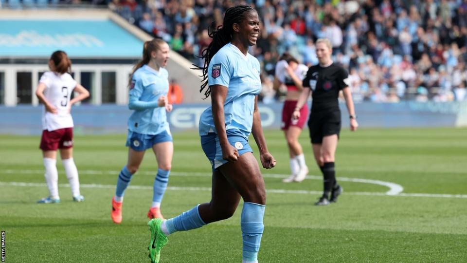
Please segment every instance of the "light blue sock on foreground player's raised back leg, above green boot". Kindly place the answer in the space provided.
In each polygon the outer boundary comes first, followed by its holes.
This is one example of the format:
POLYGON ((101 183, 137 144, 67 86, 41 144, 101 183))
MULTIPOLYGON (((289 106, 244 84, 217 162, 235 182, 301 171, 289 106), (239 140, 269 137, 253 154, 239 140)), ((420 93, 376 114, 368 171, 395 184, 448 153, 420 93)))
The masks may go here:
POLYGON ((204 223, 204 221, 199 216, 198 207, 199 205, 165 221, 165 225, 167 226, 167 231, 169 234, 177 231, 195 229, 206 225, 206 223, 204 223))

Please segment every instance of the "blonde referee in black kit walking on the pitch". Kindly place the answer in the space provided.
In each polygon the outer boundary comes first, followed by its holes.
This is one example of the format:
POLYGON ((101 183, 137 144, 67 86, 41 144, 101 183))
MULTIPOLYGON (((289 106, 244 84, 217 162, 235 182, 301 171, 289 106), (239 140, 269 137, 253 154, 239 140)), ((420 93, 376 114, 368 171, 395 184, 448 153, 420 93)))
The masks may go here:
POLYGON ((350 131, 356 131, 359 124, 355 115, 350 88, 344 80, 348 73, 331 59, 332 46, 328 39, 316 41, 316 56, 319 64, 308 69, 303 80, 304 90, 292 114, 293 119, 300 118, 300 109, 305 105, 312 92, 312 105, 308 128, 316 162, 323 172, 323 196, 315 203, 326 206, 335 203, 342 192, 337 184, 334 155, 336 153, 339 132, 341 131, 341 111, 339 92, 342 91, 350 117, 350 131))

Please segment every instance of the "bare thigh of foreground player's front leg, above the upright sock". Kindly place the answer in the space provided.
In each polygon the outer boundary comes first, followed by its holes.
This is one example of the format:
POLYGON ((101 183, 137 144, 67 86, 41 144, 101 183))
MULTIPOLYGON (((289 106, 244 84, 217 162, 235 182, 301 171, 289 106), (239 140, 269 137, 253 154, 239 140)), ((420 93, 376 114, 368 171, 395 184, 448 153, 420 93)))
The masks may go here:
POLYGON ((219 170, 245 202, 265 203, 264 180, 251 152, 240 155, 235 163, 229 162, 222 165, 219 170))

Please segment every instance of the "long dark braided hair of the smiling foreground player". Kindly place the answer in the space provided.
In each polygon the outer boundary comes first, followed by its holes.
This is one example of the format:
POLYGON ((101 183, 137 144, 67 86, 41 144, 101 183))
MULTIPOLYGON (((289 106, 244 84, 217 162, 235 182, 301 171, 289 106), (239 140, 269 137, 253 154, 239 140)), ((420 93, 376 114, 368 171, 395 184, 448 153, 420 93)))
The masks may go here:
MULTIPOLYGON (((204 92, 204 99, 209 97, 211 94, 211 88, 208 86, 209 62, 211 62, 211 59, 220 48, 232 41, 232 35, 234 33, 232 26, 234 23, 240 24, 241 21, 245 18, 245 14, 252 11, 256 12, 256 10, 249 5, 236 5, 234 7, 230 7, 225 11, 222 25, 218 26, 216 29, 213 29, 213 26, 210 28, 211 32, 208 34, 210 38, 213 38, 213 41, 206 49, 202 51, 200 56, 200 58, 204 59, 204 66, 199 67, 195 65, 195 68, 193 68, 202 71, 201 76, 203 77, 203 83, 201 84, 201 89, 199 92, 202 92, 207 87, 204 92)), ((213 25, 215 25, 215 21, 213 21, 213 25)))

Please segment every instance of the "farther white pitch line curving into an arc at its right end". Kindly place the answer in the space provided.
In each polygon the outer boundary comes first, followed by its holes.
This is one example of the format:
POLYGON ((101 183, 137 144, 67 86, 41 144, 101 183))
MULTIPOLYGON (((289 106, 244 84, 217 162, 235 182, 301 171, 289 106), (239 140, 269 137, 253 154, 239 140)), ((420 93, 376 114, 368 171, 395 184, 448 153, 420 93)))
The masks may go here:
MULTIPOLYGON (((35 174, 35 173, 43 173, 43 170, 5 170, 3 171, 4 173, 9 173, 9 174, 14 174, 14 173, 23 173, 23 174, 35 174)), ((79 173, 81 174, 119 174, 120 171, 97 171, 97 170, 80 170, 79 173)), ((149 174, 149 175, 154 175, 156 172, 151 172, 151 171, 143 171, 139 172, 139 174, 149 174)), ((207 172, 176 172, 172 171, 170 172, 171 176, 209 176, 211 177, 210 173, 207 172)), ((265 178, 287 178, 289 175, 288 174, 277 174, 277 173, 267 173, 263 174, 263 177, 265 178)), ((316 175, 307 175, 305 177, 306 179, 313 179, 313 180, 323 180, 323 176, 316 176, 316 175)), ((374 185, 380 185, 389 188, 389 191, 385 192, 384 194, 386 195, 398 195, 401 193, 404 188, 401 185, 391 183, 391 182, 385 182, 385 181, 379 181, 379 180, 372 180, 372 179, 360 179, 360 178, 348 178, 348 177, 337 177, 339 181, 343 182, 354 182, 354 183, 365 183, 365 184, 374 184, 374 185)))

